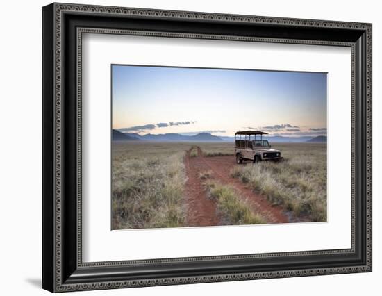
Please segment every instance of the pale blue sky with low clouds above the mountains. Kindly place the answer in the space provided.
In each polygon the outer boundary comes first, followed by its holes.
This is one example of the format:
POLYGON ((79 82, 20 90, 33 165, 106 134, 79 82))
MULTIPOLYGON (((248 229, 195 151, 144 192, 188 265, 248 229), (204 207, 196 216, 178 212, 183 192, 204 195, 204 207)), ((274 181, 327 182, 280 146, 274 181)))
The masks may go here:
POLYGON ((113 129, 326 135, 326 73, 112 65, 113 129))

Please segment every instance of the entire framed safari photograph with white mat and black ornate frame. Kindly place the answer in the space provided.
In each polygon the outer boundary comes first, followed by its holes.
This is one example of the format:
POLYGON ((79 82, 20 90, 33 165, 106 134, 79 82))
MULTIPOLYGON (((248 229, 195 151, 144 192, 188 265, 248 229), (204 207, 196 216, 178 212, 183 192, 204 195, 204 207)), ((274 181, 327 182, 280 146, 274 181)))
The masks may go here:
POLYGON ((372 271, 372 24, 42 8, 42 286, 372 271))

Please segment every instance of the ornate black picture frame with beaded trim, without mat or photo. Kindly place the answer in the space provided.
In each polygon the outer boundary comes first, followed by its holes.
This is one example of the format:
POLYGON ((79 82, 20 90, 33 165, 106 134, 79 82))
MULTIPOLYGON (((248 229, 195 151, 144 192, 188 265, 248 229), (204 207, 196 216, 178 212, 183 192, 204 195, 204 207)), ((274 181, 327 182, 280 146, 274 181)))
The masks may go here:
POLYGON ((53 3, 42 8, 42 287, 51 292, 372 271, 372 24, 53 3), (351 48, 351 248, 83 262, 83 33, 351 48))

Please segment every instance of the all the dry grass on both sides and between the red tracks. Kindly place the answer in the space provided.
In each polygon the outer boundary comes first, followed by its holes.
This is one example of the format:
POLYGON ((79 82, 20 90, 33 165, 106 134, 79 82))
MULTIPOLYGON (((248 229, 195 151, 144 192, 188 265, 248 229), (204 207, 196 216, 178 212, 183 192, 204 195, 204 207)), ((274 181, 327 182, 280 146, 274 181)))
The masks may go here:
MULTIPOLYGON (((326 221, 326 145, 274 144, 288 160, 235 165, 231 142, 113 142, 112 229, 187 227, 184 157, 200 147, 204 156, 232 156, 231 176, 265 195, 294 217, 326 221)), ((214 158, 211 158, 214 159, 214 158)), ((219 224, 263 223, 230 184, 201 172, 206 195, 215 200, 219 224)))

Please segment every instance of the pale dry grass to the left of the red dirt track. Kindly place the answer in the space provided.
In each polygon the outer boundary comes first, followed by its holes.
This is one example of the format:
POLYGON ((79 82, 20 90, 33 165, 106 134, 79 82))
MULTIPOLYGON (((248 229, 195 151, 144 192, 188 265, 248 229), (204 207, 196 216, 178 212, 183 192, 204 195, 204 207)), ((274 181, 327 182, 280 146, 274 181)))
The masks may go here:
POLYGON ((188 149, 183 143, 113 142, 112 229, 186 226, 188 149))

